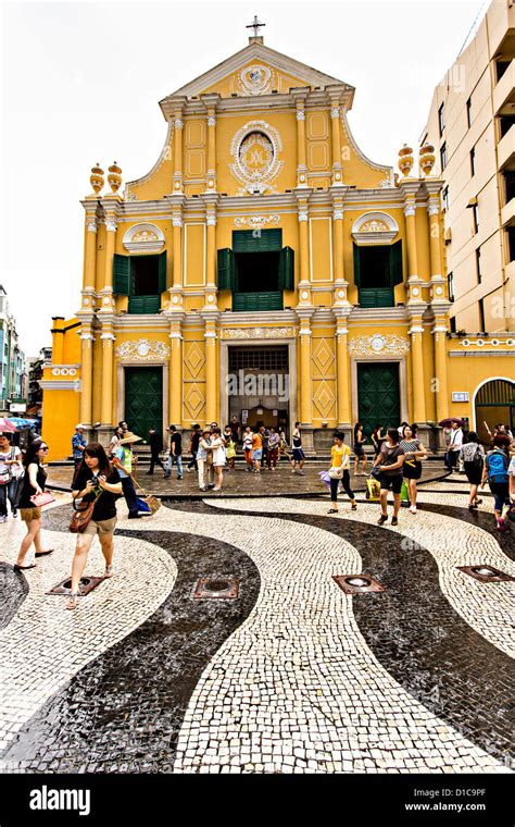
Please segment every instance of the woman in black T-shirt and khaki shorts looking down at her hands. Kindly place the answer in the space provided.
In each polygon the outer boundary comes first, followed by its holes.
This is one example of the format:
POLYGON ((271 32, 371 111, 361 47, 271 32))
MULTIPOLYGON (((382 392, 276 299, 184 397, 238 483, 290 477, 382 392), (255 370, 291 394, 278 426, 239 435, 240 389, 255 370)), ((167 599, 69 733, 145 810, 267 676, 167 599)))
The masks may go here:
POLYGON ((77 533, 77 544, 72 564, 72 587, 66 608, 77 607, 80 578, 84 575, 88 552, 98 534, 102 554, 105 558, 104 577, 113 576, 113 533, 116 526, 116 497, 123 493, 120 474, 108 459, 99 442, 90 442, 84 449, 83 465, 74 481, 73 498, 84 504, 95 503, 91 517, 77 533))

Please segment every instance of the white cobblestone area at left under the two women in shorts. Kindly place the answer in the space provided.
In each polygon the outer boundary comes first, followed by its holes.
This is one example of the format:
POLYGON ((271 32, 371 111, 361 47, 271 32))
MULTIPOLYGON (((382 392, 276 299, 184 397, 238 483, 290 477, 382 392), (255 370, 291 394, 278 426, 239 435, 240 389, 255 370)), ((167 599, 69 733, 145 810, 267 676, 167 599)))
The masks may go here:
MULTIPOLYGON (((59 498, 58 504, 68 499, 59 498)), ((14 564, 25 526, 13 520, 0 531, 0 559, 14 564)), ((0 750, 79 669, 137 629, 173 589, 177 575, 174 560, 162 548, 137 538, 118 536, 115 576, 70 612, 63 596, 46 592, 70 576, 75 539, 45 528, 43 538, 46 547, 55 551, 24 572, 29 592, 11 622, 0 630, 0 750), (135 572, 137 577, 131 577, 135 572)), ((26 564, 34 561, 33 557, 30 552, 26 564)), ((95 540, 86 573, 102 577, 104 568, 95 540)))

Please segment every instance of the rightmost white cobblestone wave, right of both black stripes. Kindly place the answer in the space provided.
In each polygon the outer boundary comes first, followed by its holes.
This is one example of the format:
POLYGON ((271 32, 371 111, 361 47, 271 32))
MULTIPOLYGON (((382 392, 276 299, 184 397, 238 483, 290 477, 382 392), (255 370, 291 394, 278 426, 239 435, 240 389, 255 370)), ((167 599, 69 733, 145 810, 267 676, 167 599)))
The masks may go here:
MULTIPOLYGON (((426 496, 429 498, 431 495, 426 496)), ((445 504, 453 505, 452 499, 456 496, 459 495, 450 494, 445 504)), ((210 499, 206 502, 213 507, 249 510, 252 508, 253 501, 210 499)), ((420 497, 420 502, 424 502, 424 496, 420 497)), ((276 513, 327 516, 325 501, 277 497, 273 499, 273 503, 271 502, 271 507, 276 513)), ((357 511, 350 511, 350 506, 346 504, 340 507, 338 515, 332 515, 332 518, 336 516, 338 519, 375 524, 379 514, 377 503, 360 503, 357 511)), ((418 510, 413 515, 407 509, 401 509, 399 523, 394 527, 388 522, 382 528, 407 538, 407 541, 402 541, 405 544, 406 554, 411 548, 416 547, 415 544, 427 548, 438 565, 442 593, 453 608, 486 640, 513 657, 515 655, 513 627, 515 583, 500 582, 494 585, 481 583, 456 568, 483 563, 515 577, 515 564, 503 554, 494 538, 477 526, 465 523, 454 517, 445 516, 442 519, 432 511, 418 510)))

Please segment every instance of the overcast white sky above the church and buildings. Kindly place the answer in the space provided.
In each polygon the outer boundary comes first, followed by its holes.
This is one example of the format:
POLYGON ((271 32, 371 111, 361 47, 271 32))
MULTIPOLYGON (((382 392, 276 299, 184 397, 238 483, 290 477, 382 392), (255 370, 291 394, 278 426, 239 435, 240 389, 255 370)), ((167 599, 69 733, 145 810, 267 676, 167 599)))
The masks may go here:
POLYGON ((416 147, 432 90, 482 0, 7 2, 1 10, 0 283, 27 355, 79 306, 84 210, 96 161, 146 174, 164 144, 158 101, 248 42, 355 86, 349 122, 374 161, 416 147))

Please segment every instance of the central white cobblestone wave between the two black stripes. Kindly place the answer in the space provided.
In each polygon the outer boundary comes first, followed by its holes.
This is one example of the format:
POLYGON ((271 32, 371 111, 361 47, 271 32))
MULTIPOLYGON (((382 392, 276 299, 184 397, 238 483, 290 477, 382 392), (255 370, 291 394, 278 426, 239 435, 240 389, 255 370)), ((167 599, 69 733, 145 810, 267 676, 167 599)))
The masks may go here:
MULTIPOLYGON (((303 505, 317 513, 322 504, 281 499, 264 507, 294 513, 303 505)), ((508 772, 377 662, 352 598, 331 580, 361 570, 348 542, 280 518, 161 509, 153 519, 155 529, 194 531, 244 550, 262 578, 253 612, 193 691, 174 772, 508 772)))

